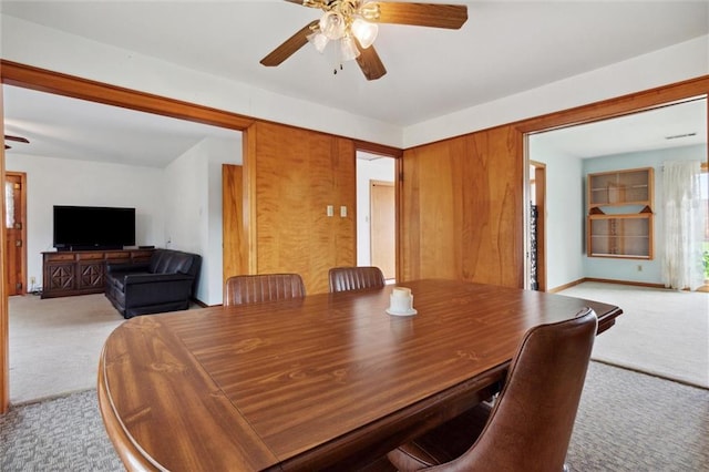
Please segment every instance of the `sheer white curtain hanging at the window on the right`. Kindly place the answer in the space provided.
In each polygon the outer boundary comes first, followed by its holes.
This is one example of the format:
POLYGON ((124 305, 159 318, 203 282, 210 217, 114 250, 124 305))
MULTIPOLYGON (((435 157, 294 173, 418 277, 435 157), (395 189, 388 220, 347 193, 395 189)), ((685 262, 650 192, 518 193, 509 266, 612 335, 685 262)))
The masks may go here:
POLYGON ((699 161, 665 162, 662 194, 665 196, 665 256, 662 283, 678 290, 695 290, 703 284, 701 242, 703 208, 699 161))

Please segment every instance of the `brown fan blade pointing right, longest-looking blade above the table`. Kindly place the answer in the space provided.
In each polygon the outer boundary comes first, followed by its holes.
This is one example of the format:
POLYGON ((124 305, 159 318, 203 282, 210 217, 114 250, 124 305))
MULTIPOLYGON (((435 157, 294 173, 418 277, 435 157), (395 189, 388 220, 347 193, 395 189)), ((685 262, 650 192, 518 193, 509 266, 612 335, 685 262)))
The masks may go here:
POLYGON ((464 4, 378 2, 378 23, 412 24, 415 27, 458 30, 467 21, 464 4))

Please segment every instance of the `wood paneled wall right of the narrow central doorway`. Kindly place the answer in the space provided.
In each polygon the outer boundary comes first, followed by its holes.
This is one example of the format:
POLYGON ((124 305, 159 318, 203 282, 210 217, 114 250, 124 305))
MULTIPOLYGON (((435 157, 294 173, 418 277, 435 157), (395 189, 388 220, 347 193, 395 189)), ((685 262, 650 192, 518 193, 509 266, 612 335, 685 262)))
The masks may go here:
POLYGON ((404 152, 402 280, 524 286, 522 145, 510 125, 404 152))

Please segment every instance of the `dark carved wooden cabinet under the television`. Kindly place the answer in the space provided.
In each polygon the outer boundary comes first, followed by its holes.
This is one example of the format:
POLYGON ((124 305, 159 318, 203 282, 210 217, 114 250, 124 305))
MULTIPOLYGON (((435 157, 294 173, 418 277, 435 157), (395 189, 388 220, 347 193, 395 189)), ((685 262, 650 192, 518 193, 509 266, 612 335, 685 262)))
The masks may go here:
POLYGON ((100 294, 106 264, 148 261, 153 249, 42 253, 42 298, 100 294))

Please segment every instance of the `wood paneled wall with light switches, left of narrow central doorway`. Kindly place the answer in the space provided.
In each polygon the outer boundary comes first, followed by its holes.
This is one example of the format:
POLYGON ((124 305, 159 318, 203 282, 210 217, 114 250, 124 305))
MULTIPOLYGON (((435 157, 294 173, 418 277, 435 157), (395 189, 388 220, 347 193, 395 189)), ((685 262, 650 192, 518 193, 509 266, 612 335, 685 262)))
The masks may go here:
POLYGON ((246 195, 255 198, 248 223, 254 228, 251 268, 258 274, 298 273, 308 294, 328 291, 329 268, 357 261, 354 143, 260 122, 245 138, 246 195), (333 216, 327 216, 328 205, 333 216))

